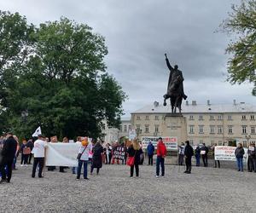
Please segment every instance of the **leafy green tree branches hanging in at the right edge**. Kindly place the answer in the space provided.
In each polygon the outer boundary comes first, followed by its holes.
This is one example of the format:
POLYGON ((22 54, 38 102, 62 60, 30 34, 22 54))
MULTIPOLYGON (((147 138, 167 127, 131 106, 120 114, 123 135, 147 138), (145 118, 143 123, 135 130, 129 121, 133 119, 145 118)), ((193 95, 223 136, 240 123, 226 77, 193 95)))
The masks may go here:
POLYGON ((231 41, 227 53, 230 83, 253 83, 256 95, 256 1, 242 0, 232 5, 229 18, 221 25, 224 32, 236 33, 239 39, 231 41))

